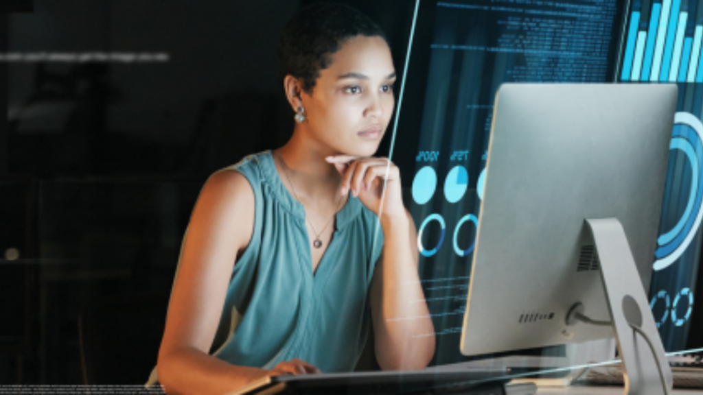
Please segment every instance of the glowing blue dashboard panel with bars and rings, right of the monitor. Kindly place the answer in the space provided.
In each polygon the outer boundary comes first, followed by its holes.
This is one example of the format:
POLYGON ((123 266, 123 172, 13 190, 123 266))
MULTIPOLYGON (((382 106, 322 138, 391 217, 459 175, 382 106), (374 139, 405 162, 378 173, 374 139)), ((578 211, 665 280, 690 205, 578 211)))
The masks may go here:
MULTIPOLYGON (((636 0, 626 18, 619 81, 678 84, 650 308, 666 351, 703 347, 697 299, 703 210, 703 1, 636 0)), ((700 350, 698 350, 700 351, 700 350)))

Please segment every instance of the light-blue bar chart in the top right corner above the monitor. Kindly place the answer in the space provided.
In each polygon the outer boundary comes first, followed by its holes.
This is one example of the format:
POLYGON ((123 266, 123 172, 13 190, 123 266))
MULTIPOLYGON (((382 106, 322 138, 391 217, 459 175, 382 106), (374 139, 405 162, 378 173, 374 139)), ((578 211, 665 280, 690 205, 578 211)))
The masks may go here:
POLYGON ((628 18, 621 81, 703 82, 703 7, 697 1, 642 1, 628 18))

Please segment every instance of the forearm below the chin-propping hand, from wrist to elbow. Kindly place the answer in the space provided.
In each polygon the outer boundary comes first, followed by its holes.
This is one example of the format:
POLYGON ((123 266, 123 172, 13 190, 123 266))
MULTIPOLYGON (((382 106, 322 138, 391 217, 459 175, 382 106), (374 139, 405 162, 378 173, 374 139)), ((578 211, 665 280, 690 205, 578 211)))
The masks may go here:
POLYGON ((434 355, 434 325, 418 276, 415 223, 381 220, 385 243, 371 282, 375 354, 384 370, 420 370, 434 355))

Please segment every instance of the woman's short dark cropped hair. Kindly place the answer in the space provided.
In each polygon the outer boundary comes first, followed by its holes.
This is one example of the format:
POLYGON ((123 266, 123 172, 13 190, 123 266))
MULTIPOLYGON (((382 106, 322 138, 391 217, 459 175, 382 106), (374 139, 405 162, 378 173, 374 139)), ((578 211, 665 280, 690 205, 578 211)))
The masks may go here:
POLYGON ((288 21, 278 48, 278 73, 302 79, 311 93, 320 70, 330 65, 330 55, 342 41, 363 35, 388 39, 368 16, 345 4, 315 3, 301 8, 288 21))

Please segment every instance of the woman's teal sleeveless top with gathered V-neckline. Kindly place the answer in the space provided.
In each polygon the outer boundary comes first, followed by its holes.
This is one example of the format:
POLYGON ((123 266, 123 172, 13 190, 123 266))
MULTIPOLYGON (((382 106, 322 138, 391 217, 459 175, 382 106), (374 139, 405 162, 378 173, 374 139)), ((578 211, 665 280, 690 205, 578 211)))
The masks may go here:
MULTIPOLYGON (((231 273, 212 355, 264 369, 300 358, 323 373, 354 370, 371 328, 378 217, 350 194, 313 273, 304 207, 283 186, 271 150, 228 169, 254 190, 254 231, 231 273)), ((146 386, 156 382, 154 368, 146 386)))

